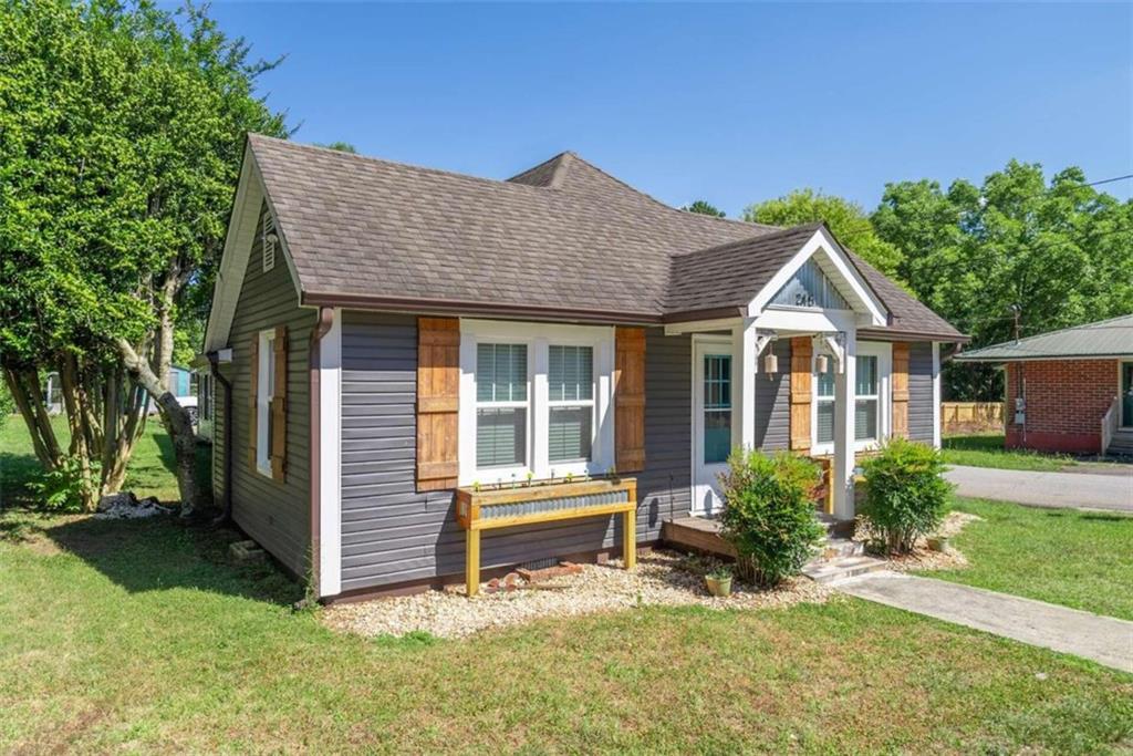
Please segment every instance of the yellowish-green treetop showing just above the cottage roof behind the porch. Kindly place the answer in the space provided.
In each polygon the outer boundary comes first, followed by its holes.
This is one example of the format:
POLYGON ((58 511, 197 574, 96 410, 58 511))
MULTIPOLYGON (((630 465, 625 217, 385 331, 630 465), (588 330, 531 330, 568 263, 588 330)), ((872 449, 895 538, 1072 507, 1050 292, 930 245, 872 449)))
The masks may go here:
POLYGON ((776 199, 748 206, 743 220, 772 226, 799 226, 823 221, 838 241, 874 267, 901 281, 901 252, 878 238, 869 215, 858 203, 813 189, 795 189, 776 199))

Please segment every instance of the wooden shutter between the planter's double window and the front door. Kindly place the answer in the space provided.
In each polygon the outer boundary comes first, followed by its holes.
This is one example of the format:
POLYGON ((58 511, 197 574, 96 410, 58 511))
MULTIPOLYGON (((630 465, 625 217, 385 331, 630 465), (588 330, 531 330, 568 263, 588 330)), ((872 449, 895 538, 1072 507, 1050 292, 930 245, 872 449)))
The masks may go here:
POLYGON ((614 464, 645 469, 645 329, 614 331, 614 464))

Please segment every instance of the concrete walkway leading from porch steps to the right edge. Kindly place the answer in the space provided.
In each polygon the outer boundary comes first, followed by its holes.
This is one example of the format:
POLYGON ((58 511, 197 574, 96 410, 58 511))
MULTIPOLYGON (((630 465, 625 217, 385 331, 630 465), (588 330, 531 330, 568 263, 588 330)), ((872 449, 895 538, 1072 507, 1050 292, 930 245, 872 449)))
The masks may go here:
POLYGON ((1125 620, 888 570, 849 578, 832 587, 867 601, 1133 672, 1133 622, 1125 620))

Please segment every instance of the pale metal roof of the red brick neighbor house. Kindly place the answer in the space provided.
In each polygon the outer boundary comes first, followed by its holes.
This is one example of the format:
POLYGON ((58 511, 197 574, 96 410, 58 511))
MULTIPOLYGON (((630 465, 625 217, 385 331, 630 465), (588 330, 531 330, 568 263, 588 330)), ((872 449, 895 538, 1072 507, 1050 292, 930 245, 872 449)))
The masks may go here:
POLYGON ((961 352, 956 362, 1133 357, 1133 314, 961 352))

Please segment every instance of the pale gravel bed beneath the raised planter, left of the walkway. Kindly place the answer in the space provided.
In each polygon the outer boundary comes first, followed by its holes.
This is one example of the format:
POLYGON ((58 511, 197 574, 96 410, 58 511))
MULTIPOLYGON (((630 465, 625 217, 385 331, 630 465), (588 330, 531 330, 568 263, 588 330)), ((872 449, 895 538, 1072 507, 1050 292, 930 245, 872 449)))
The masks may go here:
POLYGON ((733 580, 732 595, 708 595, 704 574, 713 563, 666 551, 641 554, 632 572, 621 562, 583 564, 577 575, 525 585, 510 593, 469 600, 463 586, 412 596, 378 598, 330 606, 323 612, 335 630, 366 636, 425 631, 442 638, 521 625, 543 617, 574 617, 645 605, 700 605, 710 609, 763 609, 821 603, 832 595, 825 586, 794 578, 774 591, 759 591, 733 580))

